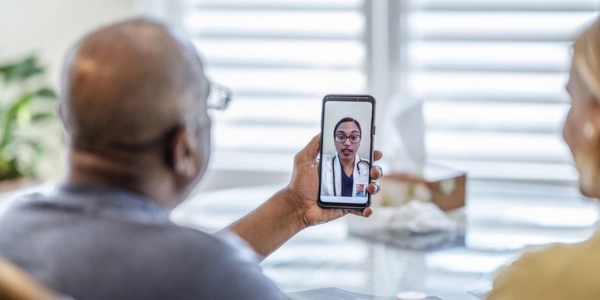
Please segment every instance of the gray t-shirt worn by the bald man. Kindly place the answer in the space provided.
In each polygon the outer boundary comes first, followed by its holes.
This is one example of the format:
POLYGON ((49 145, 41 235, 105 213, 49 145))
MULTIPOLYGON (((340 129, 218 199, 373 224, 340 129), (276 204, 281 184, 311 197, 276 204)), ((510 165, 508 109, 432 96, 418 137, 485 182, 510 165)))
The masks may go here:
POLYGON ((173 224, 143 196, 67 185, 16 199, 0 256, 75 299, 281 299, 226 239, 173 224))

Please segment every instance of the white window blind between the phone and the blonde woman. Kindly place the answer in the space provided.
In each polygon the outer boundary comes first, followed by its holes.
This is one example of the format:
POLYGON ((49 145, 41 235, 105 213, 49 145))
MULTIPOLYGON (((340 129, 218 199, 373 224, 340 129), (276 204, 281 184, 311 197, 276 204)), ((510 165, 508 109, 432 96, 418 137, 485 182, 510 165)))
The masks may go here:
POLYGON ((471 178, 572 183, 562 141, 570 47, 591 0, 414 0, 406 88, 424 101, 428 157, 471 178))

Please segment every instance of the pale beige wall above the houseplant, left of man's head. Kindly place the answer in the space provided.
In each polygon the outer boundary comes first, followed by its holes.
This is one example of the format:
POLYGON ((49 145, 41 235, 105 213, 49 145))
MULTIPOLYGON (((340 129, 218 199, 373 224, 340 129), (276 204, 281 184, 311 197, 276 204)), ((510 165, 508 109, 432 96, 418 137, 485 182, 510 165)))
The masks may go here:
POLYGON ((0 64, 38 53, 56 85, 67 50, 82 35, 134 13, 135 0, 0 0, 0 64))

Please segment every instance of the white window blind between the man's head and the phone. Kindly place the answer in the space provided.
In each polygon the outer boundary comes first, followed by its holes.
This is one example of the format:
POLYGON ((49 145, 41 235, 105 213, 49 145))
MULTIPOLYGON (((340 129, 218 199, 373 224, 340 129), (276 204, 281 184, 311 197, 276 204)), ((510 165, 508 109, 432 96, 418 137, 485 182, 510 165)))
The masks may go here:
POLYGON ((182 25, 234 100, 213 112, 211 168, 291 170, 327 93, 364 93, 361 0, 186 0, 182 25))

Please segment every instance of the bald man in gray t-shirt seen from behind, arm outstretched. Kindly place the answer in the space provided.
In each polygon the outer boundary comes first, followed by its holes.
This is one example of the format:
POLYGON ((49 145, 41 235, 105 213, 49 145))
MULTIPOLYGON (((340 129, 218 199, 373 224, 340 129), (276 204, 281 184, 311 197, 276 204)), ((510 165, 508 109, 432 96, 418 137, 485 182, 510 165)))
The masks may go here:
POLYGON ((174 225, 168 212, 208 163, 209 86, 191 43, 161 24, 136 19, 86 36, 63 73, 64 182, 3 214, 0 256, 75 299, 284 298, 255 252, 267 256, 308 226, 371 210, 316 205, 315 137, 296 155, 289 185, 227 229, 174 225))

